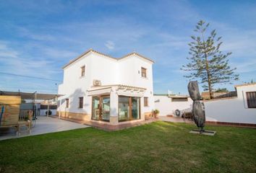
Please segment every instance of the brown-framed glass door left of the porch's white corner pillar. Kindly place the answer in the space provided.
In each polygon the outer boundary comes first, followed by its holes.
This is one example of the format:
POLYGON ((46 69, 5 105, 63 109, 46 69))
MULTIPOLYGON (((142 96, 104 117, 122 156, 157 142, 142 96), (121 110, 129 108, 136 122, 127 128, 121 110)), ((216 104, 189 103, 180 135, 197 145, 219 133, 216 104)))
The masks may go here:
POLYGON ((109 121, 110 96, 93 97, 92 120, 109 121))

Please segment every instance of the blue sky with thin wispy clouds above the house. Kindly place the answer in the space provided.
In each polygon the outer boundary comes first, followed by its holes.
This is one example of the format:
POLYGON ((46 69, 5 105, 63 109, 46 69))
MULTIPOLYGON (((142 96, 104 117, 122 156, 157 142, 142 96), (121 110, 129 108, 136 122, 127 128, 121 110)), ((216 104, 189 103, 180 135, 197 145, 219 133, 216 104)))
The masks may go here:
POLYGON ((256 81, 256 1, 0 1, 0 90, 55 93, 64 64, 89 48, 119 58, 136 51, 155 61, 154 92, 187 94, 196 22, 210 22, 240 80, 256 81))

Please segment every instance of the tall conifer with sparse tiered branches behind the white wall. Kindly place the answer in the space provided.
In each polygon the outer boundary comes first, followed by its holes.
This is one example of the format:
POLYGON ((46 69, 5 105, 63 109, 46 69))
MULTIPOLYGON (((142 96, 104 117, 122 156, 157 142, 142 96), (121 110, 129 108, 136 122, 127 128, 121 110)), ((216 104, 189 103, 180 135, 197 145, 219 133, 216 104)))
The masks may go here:
POLYGON ((200 79, 204 90, 208 90, 210 99, 213 99, 214 84, 230 83, 232 80, 238 80, 239 75, 234 74, 236 68, 229 66, 227 59, 231 53, 222 53, 220 46, 221 37, 216 38, 216 30, 209 34, 206 33, 209 23, 205 24, 200 20, 197 22, 195 32, 196 36, 191 36, 192 42, 189 43, 190 62, 182 66, 182 70, 191 71, 185 76, 189 79, 200 79), (207 35, 208 34, 208 35, 207 35))

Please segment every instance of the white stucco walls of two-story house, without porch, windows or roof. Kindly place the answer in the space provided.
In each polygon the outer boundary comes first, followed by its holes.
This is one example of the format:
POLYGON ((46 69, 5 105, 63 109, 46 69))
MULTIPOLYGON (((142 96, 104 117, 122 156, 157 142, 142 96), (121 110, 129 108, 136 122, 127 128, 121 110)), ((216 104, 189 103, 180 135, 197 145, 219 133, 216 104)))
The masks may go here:
POLYGON ((88 53, 64 68, 63 84, 59 85, 59 94, 64 96, 59 98, 61 105, 58 110, 91 114, 92 97, 87 95, 87 90, 93 86, 93 80, 100 80, 102 86, 124 84, 145 88, 144 97, 148 97, 149 107, 144 107, 141 99, 141 112, 150 112, 154 109, 152 65, 152 62, 136 55, 117 61, 97 53, 88 53), (85 66, 85 77, 81 78, 82 66, 85 66), (143 79, 139 74, 141 67, 147 68, 147 79, 143 79), (82 109, 78 108, 78 97, 84 97, 82 109), (66 108, 66 98, 69 98, 69 108, 66 108))

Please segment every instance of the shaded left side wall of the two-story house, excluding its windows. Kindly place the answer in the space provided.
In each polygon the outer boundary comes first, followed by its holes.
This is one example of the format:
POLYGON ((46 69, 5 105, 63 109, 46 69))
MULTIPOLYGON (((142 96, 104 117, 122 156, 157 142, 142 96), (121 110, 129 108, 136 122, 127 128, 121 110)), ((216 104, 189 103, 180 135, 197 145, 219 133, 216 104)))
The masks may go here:
POLYGON ((91 110, 91 97, 85 97, 86 90, 92 86, 92 57, 93 54, 88 54, 87 58, 80 58, 80 60, 72 63, 67 68, 64 68, 63 84, 59 85, 59 94, 63 94, 63 97, 59 97, 58 110, 77 113, 90 113, 91 110), (81 67, 85 66, 85 76, 81 76, 81 67), (84 97, 84 107, 78 108, 79 97, 84 97), (69 99, 69 108, 66 108, 65 99, 69 99))

